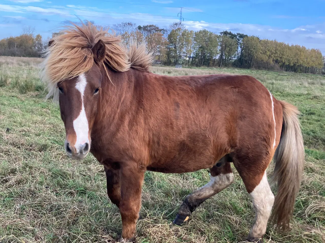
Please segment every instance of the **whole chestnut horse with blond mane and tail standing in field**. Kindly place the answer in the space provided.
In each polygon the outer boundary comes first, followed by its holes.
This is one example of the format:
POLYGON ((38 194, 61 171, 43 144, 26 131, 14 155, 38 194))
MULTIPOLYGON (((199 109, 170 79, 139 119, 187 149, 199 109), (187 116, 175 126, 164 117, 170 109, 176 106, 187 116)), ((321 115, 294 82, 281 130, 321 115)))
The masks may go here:
POLYGON ((165 76, 149 72, 145 47, 91 23, 66 26, 49 42, 43 79, 59 98, 73 159, 90 151, 107 176, 107 193, 122 216, 122 242, 132 241, 146 170, 185 173, 210 168, 211 180, 188 195, 175 224, 228 187, 233 163, 255 210, 247 237, 262 242, 273 220, 289 226, 299 190, 304 145, 298 110, 251 76, 165 76), (274 157, 278 192, 266 168, 274 157))

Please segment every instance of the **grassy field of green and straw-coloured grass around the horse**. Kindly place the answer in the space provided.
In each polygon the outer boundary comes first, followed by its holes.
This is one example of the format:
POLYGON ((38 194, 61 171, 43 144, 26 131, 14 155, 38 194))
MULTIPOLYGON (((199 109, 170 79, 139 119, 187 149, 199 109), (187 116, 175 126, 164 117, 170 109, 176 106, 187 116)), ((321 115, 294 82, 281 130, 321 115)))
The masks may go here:
MULTIPOLYGON (((115 242, 121 217, 106 195, 104 169, 64 152, 59 108, 45 101, 40 59, 0 57, 0 242, 115 242)), ((325 77, 243 69, 153 67, 166 75, 246 74, 301 111, 306 164, 292 230, 268 226, 265 242, 325 242, 325 77)), ((272 166, 271 166, 272 167, 272 166)), ((271 176, 272 168, 268 170, 271 176)), ((147 172, 137 242, 239 242, 253 223, 245 187, 235 182, 175 226, 182 200, 209 181, 206 170, 147 172)))

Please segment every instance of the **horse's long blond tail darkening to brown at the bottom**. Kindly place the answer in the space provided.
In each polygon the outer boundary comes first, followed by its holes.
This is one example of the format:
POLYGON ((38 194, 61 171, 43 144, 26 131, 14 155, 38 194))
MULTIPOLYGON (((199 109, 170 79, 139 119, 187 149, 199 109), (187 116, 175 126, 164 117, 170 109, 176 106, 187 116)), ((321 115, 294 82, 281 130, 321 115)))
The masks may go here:
POLYGON ((287 102, 280 103, 283 122, 280 143, 274 154, 273 181, 278 185, 278 193, 272 217, 278 226, 287 228, 302 179, 305 151, 298 119, 299 110, 287 102))

